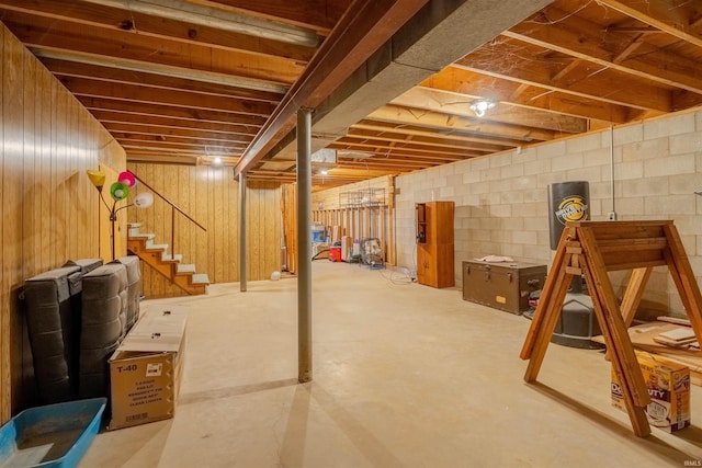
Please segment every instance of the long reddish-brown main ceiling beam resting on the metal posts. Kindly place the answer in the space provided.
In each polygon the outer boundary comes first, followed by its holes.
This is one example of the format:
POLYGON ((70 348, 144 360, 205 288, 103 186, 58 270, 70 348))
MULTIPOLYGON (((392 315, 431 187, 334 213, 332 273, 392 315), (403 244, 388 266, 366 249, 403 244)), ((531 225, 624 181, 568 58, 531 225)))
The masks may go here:
POLYGON ((355 0, 244 152, 235 176, 265 156, 274 137, 284 136, 301 106, 316 107, 428 0, 355 0))

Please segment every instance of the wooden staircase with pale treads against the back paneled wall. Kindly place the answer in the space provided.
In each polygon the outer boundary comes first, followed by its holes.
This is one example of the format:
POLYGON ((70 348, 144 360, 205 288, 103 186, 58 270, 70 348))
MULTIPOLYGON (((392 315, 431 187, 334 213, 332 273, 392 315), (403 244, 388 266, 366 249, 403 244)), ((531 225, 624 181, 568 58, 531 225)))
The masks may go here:
POLYGON ((139 222, 128 224, 127 249, 190 295, 207 293, 210 278, 195 273, 195 265, 182 263, 183 255, 169 254, 168 244, 154 243, 156 235, 141 233, 139 222))

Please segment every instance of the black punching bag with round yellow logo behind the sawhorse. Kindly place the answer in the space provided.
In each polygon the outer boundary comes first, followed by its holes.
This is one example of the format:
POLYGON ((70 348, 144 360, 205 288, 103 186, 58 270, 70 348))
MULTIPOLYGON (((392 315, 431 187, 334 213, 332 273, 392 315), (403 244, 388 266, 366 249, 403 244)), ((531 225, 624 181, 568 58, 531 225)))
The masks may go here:
POLYGON ((548 230, 551 250, 558 248, 567 221, 590 219, 590 185, 587 181, 548 184, 548 230))

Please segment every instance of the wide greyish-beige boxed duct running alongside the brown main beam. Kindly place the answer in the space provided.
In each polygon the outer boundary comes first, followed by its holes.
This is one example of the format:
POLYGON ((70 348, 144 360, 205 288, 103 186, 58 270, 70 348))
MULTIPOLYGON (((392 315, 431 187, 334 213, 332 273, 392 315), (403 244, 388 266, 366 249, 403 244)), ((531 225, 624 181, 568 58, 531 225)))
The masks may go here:
MULTIPOLYGON (((457 0, 427 4, 316 107, 313 134, 329 138, 313 139, 313 150, 548 3, 551 0, 457 0)), ((291 132, 270 153, 294 158, 295 134, 291 132)))

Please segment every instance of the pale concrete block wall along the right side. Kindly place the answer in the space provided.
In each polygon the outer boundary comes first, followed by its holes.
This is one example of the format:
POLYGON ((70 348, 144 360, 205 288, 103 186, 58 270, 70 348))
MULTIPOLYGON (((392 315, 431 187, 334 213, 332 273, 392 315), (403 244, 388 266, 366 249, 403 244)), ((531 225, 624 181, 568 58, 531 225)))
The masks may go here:
MULTIPOLYGON (((415 203, 435 199, 455 203, 456 286, 461 262, 487 254, 551 267, 548 184, 580 180, 589 182, 595 220, 612 210, 620 220, 672 219, 700 284, 702 197, 694 192, 702 190, 702 111, 397 176, 397 264, 416 270, 415 203)), ((612 274, 620 295, 627 277, 612 274)), ((661 313, 684 309, 667 269, 658 267, 641 316, 661 313)))

